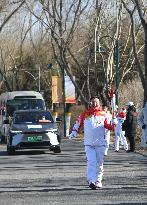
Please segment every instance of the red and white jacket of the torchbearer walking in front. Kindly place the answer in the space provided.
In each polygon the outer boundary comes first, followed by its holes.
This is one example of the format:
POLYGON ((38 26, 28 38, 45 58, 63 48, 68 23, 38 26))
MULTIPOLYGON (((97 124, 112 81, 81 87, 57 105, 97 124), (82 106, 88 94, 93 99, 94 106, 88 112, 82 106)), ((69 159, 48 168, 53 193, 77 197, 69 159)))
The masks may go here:
MULTIPOLYGON (((76 123, 77 132, 84 126, 84 145, 105 146, 105 128, 113 129, 113 125, 108 121, 106 113, 98 108, 84 111, 78 121, 79 127, 76 123)), ((73 132, 75 132, 75 126, 73 128, 73 132)), ((74 135, 74 137, 76 136, 74 135)))

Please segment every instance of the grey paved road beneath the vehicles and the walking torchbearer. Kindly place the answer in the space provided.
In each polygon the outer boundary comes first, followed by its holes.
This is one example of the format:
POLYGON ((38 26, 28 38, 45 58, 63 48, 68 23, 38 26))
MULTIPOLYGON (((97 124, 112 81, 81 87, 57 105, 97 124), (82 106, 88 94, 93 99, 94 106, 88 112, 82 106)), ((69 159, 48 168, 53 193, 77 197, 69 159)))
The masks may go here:
POLYGON ((85 179, 83 143, 62 141, 62 153, 18 152, 0 145, 0 205, 147 205, 147 157, 115 153, 105 158, 103 189, 85 179))

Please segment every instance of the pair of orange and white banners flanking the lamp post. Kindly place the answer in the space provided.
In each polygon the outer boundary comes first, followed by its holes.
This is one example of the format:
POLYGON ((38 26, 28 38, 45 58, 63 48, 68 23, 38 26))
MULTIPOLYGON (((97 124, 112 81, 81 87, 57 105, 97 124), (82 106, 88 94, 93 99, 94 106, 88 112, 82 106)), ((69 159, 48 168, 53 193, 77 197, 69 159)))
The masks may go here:
MULTIPOLYGON (((65 103, 75 103, 75 86, 69 76, 65 76, 65 103)), ((62 103, 62 78, 52 76, 52 103, 62 103)))

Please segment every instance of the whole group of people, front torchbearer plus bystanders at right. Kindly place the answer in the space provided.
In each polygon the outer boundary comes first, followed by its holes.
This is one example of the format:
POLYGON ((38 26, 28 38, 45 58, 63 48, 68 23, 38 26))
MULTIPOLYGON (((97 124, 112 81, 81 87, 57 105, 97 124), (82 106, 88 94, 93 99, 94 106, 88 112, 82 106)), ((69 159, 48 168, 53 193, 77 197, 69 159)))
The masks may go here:
POLYGON ((97 97, 90 99, 89 107, 74 124, 69 138, 75 139, 84 127, 84 146, 87 159, 87 182, 91 189, 102 188, 104 158, 108 154, 111 133, 114 133, 114 151, 119 152, 120 143, 126 152, 135 151, 137 124, 142 128, 142 144, 147 145, 147 103, 138 114, 133 102, 111 111, 100 105, 97 97), (113 132, 111 132, 113 131, 113 132))

